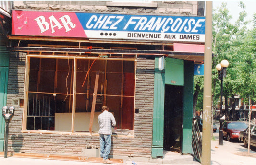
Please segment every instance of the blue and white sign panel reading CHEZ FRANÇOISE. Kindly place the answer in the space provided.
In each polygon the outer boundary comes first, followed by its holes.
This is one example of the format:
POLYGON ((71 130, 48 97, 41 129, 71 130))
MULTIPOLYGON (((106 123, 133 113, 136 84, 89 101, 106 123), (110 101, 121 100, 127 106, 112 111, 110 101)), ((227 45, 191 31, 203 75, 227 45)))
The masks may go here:
POLYGON ((89 38, 205 41, 205 17, 76 13, 89 38))

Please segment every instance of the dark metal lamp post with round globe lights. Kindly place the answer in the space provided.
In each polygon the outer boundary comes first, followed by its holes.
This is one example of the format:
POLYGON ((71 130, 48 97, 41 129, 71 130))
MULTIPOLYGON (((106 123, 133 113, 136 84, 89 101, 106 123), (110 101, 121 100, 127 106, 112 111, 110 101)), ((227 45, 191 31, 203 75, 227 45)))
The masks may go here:
MULTIPOLYGON (((220 115, 222 115, 222 97, 223 97, 223 77, 226 77, 226 69, 229 66, 229 61, 226 59, 222 60, 220 64, 216 65, 218 70, 218 79, 220 79, 220 115)), ((222 131, 222 118, 219 120, 219 145, 223 145, 223 131, 222 131)))

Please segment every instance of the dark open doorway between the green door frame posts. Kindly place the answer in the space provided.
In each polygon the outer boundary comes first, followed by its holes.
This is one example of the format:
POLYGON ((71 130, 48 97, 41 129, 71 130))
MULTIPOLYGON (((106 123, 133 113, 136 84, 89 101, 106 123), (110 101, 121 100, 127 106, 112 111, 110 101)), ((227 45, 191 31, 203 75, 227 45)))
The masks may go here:
POLYGON ((181 152, 183 86, 165 84, 164 150, 181 152))

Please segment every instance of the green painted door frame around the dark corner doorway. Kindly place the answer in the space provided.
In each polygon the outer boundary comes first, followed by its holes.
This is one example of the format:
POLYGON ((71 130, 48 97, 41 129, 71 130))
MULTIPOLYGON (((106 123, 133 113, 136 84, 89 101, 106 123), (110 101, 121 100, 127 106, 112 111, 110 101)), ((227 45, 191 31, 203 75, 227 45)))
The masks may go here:
MULTIPOLYGON (((154 80, 154 109, 153 109, 153 133, 151 157, 163 156, 163 134, 164 134, 164 92, 165 82, 170 84, 172 81, 166 80, 166 70, 159 70, 160 57, 155 57, 155 80, 154 80)), ((175 83, 183 84, 183 139, 182 153, 193 153, 192 150, 192 118, 193 118, 193 78, 194 62, 179 59, 168 59, 174 66, 183 65, 183 78, 178 78, 175 83), (183 80, 182 80, 183 79, 183 80)), ((170 66, 168 66, 170 67, 170 66)), ((166 67, 166 68, 168 68, 166 67)), ((174 73, 175 75, 179 75, 174 73)), ((172 77, 173 75, 171 75, 172 77)), ((170 79, 170 76, 167 76, 170 79)), ((175 76, 174 76, 175 77, 175 76)))

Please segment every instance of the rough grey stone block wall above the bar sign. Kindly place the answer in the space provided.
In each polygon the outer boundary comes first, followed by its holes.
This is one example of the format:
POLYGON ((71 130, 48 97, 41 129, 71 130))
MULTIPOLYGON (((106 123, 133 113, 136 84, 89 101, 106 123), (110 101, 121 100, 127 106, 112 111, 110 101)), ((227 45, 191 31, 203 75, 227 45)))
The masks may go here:
POLYGON ((149 2, 112 2, 112 1, 14 1, 13 8, 18 10, 105 12, 129 14, 159 14, 197 16, 197 1, 149 1, 149 2))

